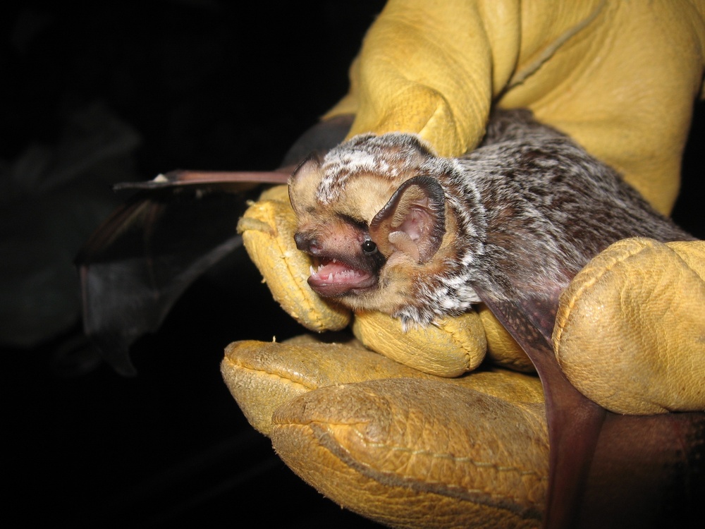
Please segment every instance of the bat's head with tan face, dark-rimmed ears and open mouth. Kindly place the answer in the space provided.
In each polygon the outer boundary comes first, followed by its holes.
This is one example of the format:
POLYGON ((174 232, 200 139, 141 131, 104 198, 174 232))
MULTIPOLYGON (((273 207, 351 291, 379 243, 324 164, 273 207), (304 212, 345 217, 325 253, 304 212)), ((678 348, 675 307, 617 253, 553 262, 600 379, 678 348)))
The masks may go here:
POLYGON ((431 320, 438 311, 419 291, 434 291, 455 253, 441 183, 453 170, 397 133, 357 136, 324 159, 309 157, 290 178, 289 197, 296 245, 312 257, 311 288, 355 309, 431 320))

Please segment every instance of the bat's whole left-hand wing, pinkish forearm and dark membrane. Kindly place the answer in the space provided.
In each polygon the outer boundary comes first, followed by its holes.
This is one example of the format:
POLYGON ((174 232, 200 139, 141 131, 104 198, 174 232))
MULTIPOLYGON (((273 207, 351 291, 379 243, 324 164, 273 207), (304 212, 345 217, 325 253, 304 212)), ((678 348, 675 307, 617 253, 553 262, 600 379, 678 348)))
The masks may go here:
POLYGON ((93 233, 75 265, 84 333, 117 372, 135 375, 130 345, 157 330, 188 286, 240 247, 235 226, 247 199, 264 184, 286 183, 301 159, 341 142, 351 123, 338 116, 309 128, 276 171, 171 171, 114 186, 136 193, 93 233))

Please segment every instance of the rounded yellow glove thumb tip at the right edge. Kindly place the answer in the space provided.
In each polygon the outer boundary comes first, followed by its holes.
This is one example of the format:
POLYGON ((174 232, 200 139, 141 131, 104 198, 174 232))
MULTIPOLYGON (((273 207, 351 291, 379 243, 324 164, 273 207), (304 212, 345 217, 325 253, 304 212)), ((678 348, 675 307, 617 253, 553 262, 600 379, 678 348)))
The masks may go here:
POLYGON ((705 410, 705 242, 611 245, 563 292, 553 341, 572 384, 615 413, 705 410))

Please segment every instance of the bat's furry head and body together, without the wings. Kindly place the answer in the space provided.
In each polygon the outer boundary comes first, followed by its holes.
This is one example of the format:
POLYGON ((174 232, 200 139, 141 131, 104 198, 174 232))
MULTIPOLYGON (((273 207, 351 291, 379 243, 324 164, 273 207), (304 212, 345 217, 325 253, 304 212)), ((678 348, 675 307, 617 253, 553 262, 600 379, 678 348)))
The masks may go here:
MULTIPOLYGON (((690 240, 610 167, 529 111, 497 111, 459 159, 413 135, 360 135, 290 178, 309 284, 407 323, 480 301, 528 298, 550 312, 591 257, 631 236, 690 240)), ((521 303, 521 300, 519 300, 521 303)))

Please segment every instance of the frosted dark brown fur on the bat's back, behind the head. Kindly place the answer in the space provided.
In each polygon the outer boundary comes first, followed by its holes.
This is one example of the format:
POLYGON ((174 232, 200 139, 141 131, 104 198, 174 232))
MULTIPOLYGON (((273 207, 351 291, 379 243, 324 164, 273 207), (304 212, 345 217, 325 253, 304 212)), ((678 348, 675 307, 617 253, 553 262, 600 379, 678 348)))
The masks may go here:
MULTIPOLYGON (((459 159, 486 217, 486 272, 546 289, 565 286, 587 262, 623 238, 692 239, 658 214, 611 167, 529 111, 499 111, 486 138, 459 159)), ((455 193, 467 193, 455 184, 455 193)), ((472 222, 472 220, 470 220, 472 222)))

